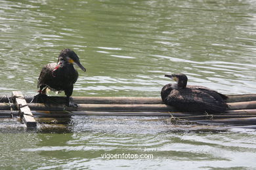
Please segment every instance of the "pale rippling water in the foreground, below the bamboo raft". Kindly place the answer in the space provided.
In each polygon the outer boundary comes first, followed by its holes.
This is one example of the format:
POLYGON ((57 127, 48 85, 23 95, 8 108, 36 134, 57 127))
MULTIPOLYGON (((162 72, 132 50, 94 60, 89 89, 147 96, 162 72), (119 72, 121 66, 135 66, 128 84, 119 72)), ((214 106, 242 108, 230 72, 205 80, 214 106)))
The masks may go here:
POLYGON ((1 135, 1 143, 11 146, 0 148, 5 155, 1 165, 8 167, 8 162, 24 169, 65 169, 105 167, 108 163, 116 168, 134 167, 136 163, 138 168, 156 169, 183 167, 185 161, 194 168, 250 167, 256 151, 255 130, 250 129, 191 131, 193 125, 175 125, 166 118, 125 116, 74 117, 69 126, 71 133, 30 131, 1 135), (101 157, 105 153, 153 154, 154 159, 106 160, 101 157), (17 158, 22 161, 16 162, 17 158))

